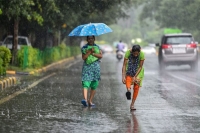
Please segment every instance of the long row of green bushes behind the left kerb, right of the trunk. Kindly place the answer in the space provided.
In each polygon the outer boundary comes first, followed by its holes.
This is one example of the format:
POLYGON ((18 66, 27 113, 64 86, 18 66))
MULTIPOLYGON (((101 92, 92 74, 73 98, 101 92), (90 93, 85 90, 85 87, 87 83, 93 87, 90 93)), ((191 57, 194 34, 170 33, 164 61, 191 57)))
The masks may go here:
POLYGON ((80 47, 69 47, 65 44, 60 44, 52 48, 45 48, 43 51, 31 46, 23 46, 17 52, 17 66, 22 69, 38 68, 78 54, 80 54, 80 47))

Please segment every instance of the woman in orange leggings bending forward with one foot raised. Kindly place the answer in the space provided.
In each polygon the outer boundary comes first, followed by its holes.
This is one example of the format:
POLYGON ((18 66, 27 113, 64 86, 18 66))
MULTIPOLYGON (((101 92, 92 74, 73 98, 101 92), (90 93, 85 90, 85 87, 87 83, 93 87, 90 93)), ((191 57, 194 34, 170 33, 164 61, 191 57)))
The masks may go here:
POLYGON ((142 80, 144 77, 144 60, 144 52, 141 51, 139 45, 133 45, 132 49, 125 53, 122 67, 122 82, 126 84, 126 97, 128 100, 131 100, 131 85, 133 85, 133 96, 130 105, 131 110, 136 110, 134 108, 134 103, 138 96, 139 88, 142 86, 142 80))

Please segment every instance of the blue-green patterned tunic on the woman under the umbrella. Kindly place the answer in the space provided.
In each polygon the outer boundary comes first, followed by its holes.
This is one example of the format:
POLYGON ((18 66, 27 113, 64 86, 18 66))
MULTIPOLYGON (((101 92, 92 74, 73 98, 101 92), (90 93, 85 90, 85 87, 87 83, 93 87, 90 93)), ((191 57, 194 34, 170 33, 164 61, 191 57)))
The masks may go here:
MULTIPOLYGON (((86 44, 81 48, 82 54, 85 54, 87 50, 94 48, 95 53, 99 53, 99 46, 94 44, 90 46, 86 44)), ((100 64, 98 58, 89 55, 88 58, 83 62, 82 67, 82 81, 99 81, 100 77, 100 64)))

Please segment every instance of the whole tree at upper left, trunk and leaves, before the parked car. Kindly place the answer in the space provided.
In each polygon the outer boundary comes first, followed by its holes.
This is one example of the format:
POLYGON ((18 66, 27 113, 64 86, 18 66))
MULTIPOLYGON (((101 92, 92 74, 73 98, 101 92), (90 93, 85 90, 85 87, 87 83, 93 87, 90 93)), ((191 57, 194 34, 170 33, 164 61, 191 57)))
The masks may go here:
POLYGON ((3 12, 2 18, 13 23, 13 47, 12 47, 12 64, 14 64, 17 54, 18 44, 18 26, 21 18, 27 18, 29 21, 36 20, 39 24, 42 24, 43 18, 40 14, 32 10, 32 7, 37 7, 36 2, 33 0, 1 0, 1 10, 3 12))

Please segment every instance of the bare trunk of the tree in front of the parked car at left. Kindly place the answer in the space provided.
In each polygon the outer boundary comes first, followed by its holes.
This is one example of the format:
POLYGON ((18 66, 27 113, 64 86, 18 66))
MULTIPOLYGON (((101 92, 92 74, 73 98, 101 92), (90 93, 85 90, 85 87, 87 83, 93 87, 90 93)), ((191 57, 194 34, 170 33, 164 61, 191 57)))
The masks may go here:
POLYGON ((19 20, 14 20, 14 34, 13 34, 13 46, 12 46, 12 65, 16 62, 17 57, 17 45, 18 45, 18 28, 19 20))

